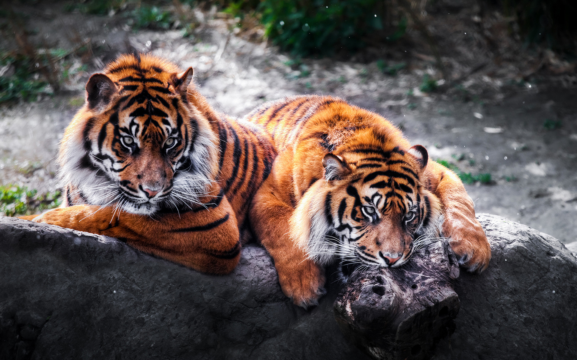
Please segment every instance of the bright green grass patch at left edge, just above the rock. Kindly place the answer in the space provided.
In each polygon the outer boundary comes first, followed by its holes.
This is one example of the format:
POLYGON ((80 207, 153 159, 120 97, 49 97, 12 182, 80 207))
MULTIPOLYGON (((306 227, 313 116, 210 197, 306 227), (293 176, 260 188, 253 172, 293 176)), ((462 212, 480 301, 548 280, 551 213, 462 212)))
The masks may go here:
POLYGON ((61 204, 60 192, 38 194, 37 190, 16 185, 0 186, 0 213, 6 216, 29 215, 46 209, 53 209, 61 204))

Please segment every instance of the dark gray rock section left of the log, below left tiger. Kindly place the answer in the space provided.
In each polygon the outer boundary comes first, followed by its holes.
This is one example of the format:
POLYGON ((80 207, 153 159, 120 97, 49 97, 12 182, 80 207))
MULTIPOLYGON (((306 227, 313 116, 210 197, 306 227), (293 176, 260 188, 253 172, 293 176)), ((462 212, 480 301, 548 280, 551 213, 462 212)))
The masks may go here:
POLYGON ((365 359, 280 291, 263 248, 200 274, 114 238, 0 218, 0 359, 365 359))

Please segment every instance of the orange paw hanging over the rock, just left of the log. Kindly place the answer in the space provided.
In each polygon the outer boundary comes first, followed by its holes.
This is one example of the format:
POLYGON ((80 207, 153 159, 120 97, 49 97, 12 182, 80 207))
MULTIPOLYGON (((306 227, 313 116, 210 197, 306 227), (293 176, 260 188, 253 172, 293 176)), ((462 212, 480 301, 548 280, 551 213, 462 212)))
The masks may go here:
POLYGON ((276 264, 280 287, 295 305, 308 309, 319 305, 319 298, 327 293, 324 289, 324 268, 312 260, 276 264))

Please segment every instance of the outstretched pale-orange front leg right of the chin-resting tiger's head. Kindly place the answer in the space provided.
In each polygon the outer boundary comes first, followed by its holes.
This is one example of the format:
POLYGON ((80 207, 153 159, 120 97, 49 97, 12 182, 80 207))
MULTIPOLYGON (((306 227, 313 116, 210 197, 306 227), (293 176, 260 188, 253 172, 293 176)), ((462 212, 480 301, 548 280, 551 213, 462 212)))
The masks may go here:
POLYGON ((489 266, 491 248, 481 223, 475 218, 473 200, 454 172, 430 162, 432 191, 443 203, 443 234, 451 238, 451 248, 459 263, 470 272, 482 272, 489 266))

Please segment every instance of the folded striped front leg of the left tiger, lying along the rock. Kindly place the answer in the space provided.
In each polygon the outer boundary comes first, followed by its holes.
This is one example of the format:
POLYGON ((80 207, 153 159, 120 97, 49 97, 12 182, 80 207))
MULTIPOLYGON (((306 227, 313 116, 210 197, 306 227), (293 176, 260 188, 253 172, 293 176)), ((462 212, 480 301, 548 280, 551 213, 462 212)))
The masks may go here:
POLYGON ((226 198, 215 209, 152 217, 114 207, 75 205, 47 211, 33 221, 116 237, 140 251, 208 274, 228 274, 240 258, 238 225, 226 198))

